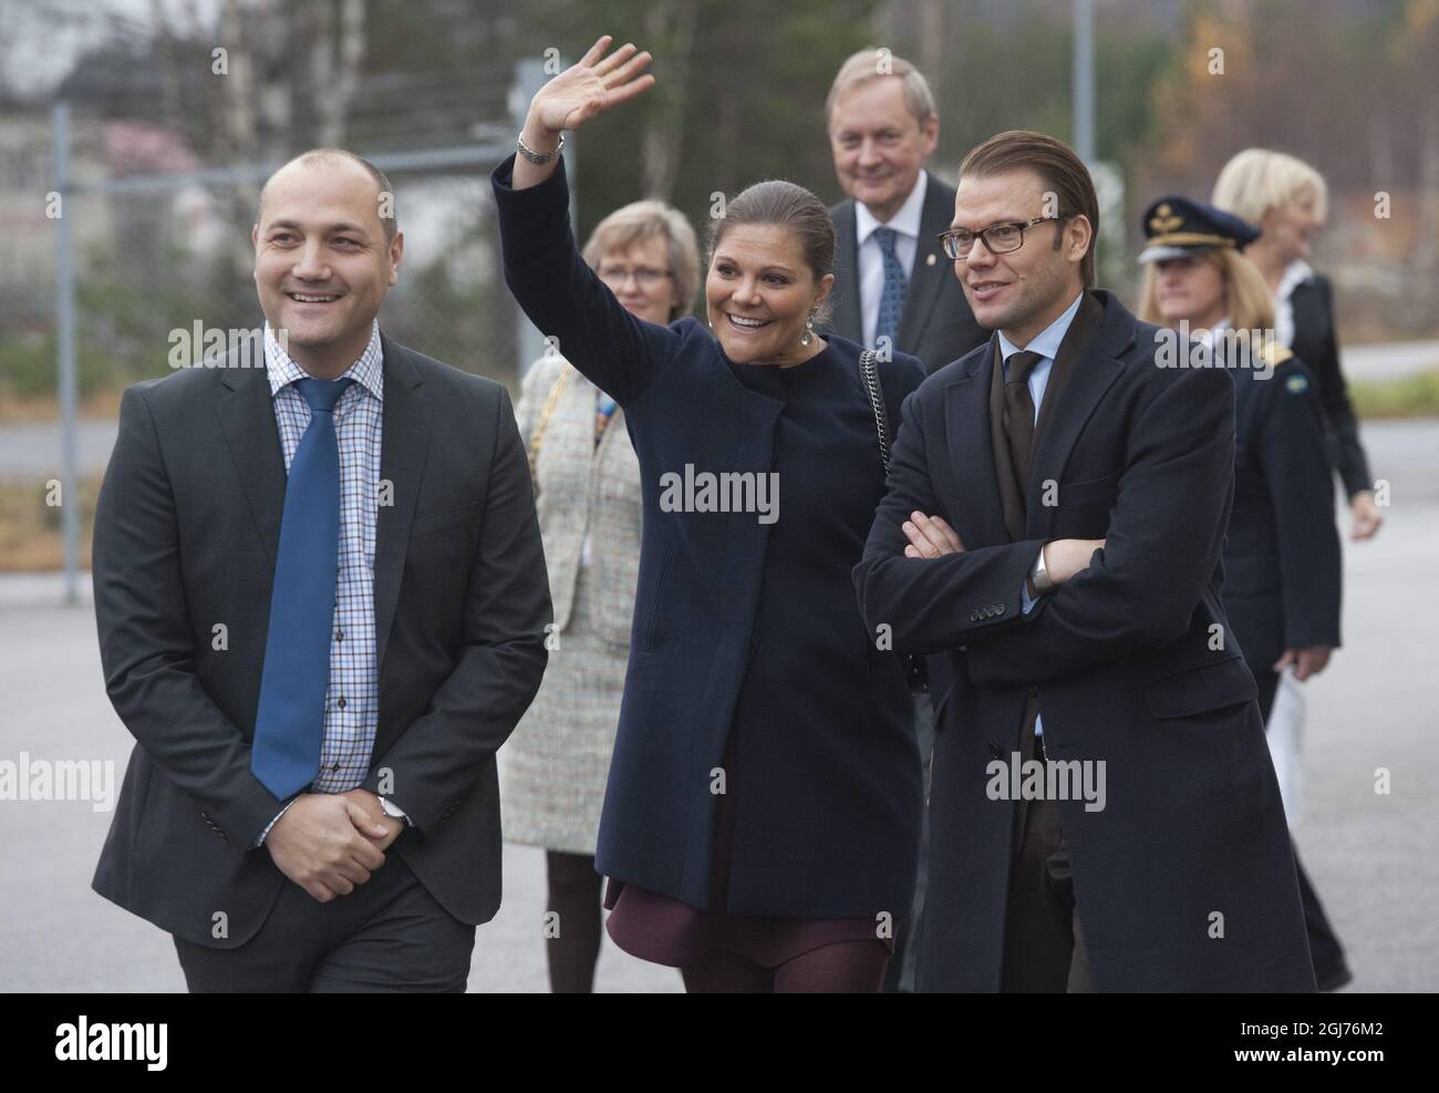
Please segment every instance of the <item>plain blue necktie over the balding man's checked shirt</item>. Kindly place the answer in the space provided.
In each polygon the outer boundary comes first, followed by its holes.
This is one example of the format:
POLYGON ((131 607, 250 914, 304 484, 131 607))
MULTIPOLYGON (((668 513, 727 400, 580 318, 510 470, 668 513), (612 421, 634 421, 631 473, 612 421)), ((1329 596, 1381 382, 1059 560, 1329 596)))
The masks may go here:
POLYGON ((269 635, 250 770, 276 798, 319 773, 325 687, 340 567, 340 442, 335 403, 354 380, 295 380, 309 405, 285 485, 269 635))

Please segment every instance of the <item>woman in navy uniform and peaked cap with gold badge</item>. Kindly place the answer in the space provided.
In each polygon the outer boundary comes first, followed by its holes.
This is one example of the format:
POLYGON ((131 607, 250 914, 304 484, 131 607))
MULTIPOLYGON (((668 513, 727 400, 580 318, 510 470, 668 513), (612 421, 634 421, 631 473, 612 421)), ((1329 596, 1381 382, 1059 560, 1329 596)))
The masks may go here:
MULTIPOLYGON (((1225 546, 1225 612, 1259 684, 1265 721, 1279 673, 1304 681, 1340 644, 1340 544, 1324 416, 1314 380, 1274 338, 1274 297, 1242 251, 1252 225, 1181 196, 1144 215, 1140 317, 1194 338, 1180 366, 1235 380, 1235 503, 1225 546)), ((1295 854, 1315 981, 1350 979, 1344 950, 1295 854)))

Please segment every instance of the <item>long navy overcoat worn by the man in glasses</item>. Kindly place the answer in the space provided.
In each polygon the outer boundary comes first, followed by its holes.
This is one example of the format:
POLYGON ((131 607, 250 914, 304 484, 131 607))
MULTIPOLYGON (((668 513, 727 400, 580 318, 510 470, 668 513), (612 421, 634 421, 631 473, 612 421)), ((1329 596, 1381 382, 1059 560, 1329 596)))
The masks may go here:
POLYGON ((950 677, 935 697, 920 988, 1000 986, 1014 804, 986 785, 990 762, 1019 750, 1029 693, 1050 759, 1105 763, 1101 811, 1059 802, 1097 988, 1312 991, 1255 680, 1233 642, 1212 642, 1227 631, 1233 383, 1156 367, 1157 328, 1092 295, 1104 314, 1039 438, 1025 539, 1006 533, 996 482, 991 343, 911 396, 855 569, 866 621, 892 622, 901 649, 941 654, 950 677), (950 521, 966 550, 904 557, 912 510, 950 521), (1035 556, 1066 537, 1107 546, 1023 615, 1035 556))

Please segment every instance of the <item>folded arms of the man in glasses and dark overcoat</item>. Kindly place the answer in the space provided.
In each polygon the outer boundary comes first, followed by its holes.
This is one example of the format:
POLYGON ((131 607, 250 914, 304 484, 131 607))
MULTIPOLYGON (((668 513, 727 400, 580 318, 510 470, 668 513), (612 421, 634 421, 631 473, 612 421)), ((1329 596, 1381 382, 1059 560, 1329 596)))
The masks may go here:
POLYGON ((947 526, 921 520, 943 507, 928 474, 924 416, 909 408, 889 492, 855 567, 866 624, 889 624, 895 648, 911 652, 966 647, 970 677, 981 685, 1043 683, 1179 637, 1223 544, 1233 405, 1223 370, 1156 382, 1130 426, 1130 459, 1102 546, 1049 543, 1046 563, 1061 586, 1027 613, 1023 583, 1045 543, 963 550, 947 526), (1076 552, 1085 556, 1078 569, 1076 552))

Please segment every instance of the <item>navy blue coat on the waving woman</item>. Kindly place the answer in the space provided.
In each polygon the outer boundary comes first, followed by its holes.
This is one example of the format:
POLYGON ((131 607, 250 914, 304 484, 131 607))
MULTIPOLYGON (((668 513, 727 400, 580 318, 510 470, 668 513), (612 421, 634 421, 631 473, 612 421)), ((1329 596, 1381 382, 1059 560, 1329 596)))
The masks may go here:
MULTIPOLYGON (((709 907, 718 798, 740 733, 728 910, 899 917, 920 838, 920 757, 904 671, 855 603, 884 468, 859 346, 791 369, 731 363, 692 317, 630 315, 584 264, 563 166, 492 177, 505 278, 535 325, 625 408, 643 534, 630 662, 596 868, 709 907), (663 477, 778 474, 778 518, 666 511, 663 477)), ((922 380, 882 366, 891 413, 922 380)))

